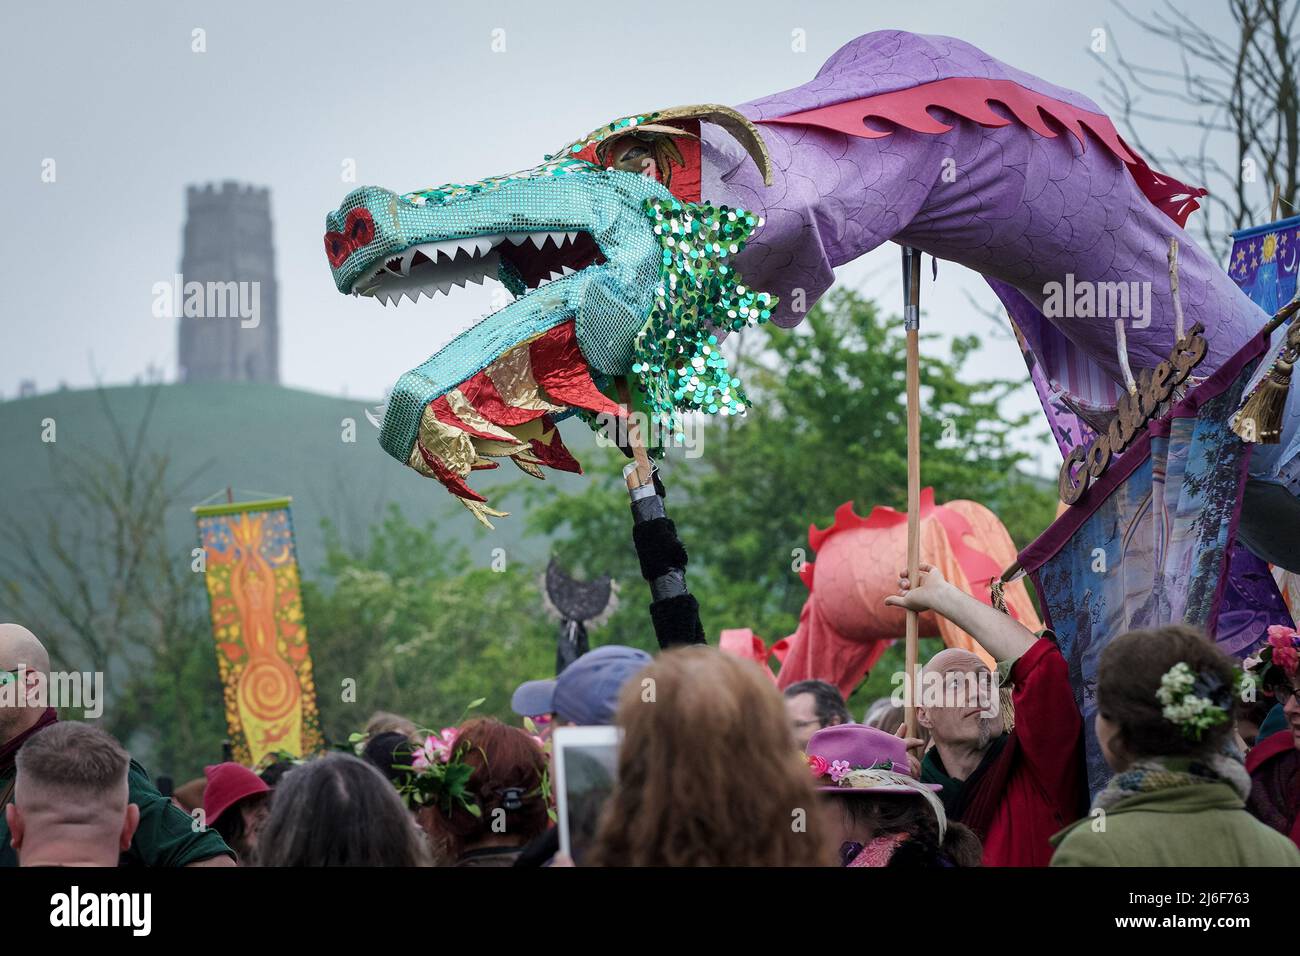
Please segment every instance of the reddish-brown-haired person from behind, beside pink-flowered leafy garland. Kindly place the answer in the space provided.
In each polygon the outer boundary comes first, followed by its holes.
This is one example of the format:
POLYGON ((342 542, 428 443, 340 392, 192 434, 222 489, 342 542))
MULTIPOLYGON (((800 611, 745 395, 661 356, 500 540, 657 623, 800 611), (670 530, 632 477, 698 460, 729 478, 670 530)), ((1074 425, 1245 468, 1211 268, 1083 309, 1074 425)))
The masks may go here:
POLYGON ((471 769, 463 799, 450 809, 441 801, 422 808, 420 825, 452 866, 512 866, 550 823, 542 748, 517 727, 474 718, 456 731, 448 753, 471 769))

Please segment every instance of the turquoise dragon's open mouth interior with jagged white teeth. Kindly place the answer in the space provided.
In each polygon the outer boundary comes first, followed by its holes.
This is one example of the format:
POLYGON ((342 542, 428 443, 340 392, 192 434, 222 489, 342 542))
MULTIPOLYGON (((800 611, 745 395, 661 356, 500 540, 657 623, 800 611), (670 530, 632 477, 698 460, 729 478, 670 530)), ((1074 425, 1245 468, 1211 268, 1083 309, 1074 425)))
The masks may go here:
POLYGON ((585 230, 473 235, 424 242, 380 260, 358 277, 352 294, 372 295, 387 306, 400 303, 403 297, 411 302, 419 302, 421 295, 432 299, 434 293, 448 294, 452 286, 498 276, 537 289, 603 261, 585 230))

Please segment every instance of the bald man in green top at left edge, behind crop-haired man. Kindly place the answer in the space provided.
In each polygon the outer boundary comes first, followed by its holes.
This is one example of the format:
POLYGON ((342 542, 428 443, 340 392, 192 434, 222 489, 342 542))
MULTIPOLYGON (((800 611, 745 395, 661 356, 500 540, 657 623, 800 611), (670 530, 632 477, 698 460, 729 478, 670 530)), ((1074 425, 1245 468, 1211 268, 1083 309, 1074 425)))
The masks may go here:
MULTIPOLYGON (((0 706, 0 806, 8 808, 14 801, 18 753, 29 741, 57 724, 55 709, 42 706, 40 689, 48 683, 49 654, 40 640, 20 624, 0 624, 0 684, 6 684, 0 689, 5 691, 5 701, 16 702, 16 706, 0 706), (21 688, 14 687, 18 682, 22 682, 21 688)), ((159 793, 144 767, 134 760, 127 761, 126 786, 127 803, 138 808, 139 822, 122 853, 124 862, 142 866, 234 866, 234 853, 216 830, 195 831, 191 826, 194 821, 159 793)), ((0 866, 18 864, 10 839, 6 809, 0 814, 0 866)))

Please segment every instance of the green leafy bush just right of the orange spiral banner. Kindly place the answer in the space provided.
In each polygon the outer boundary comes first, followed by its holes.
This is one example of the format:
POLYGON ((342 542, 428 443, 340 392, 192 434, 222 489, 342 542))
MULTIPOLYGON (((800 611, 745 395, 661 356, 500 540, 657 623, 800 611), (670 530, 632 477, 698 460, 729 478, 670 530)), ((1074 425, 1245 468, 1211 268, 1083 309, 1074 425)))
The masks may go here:
POLYGON ((329 739, 346 740, 374 710, 441 727, 477 697, 477 713, 517 721, 510 696, 555 672, 556 624, 542 613, 538 570, 460 571, 437 524, 394 506, 363 553, 328 535, 321 581, 303 588, 317 704, 329 739), (343 693, 344 682, 355 693, 343 693))

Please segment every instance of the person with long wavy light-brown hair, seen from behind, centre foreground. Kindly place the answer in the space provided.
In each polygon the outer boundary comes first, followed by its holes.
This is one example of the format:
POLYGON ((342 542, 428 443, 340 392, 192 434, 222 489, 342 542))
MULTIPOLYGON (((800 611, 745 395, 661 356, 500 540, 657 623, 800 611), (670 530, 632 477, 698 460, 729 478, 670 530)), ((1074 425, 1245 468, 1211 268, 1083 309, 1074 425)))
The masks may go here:
POLYGON ((618 723, 619 779, 595 865, 833 862, 781 695, 751 661, 668 650, 624 685, 618 723))

